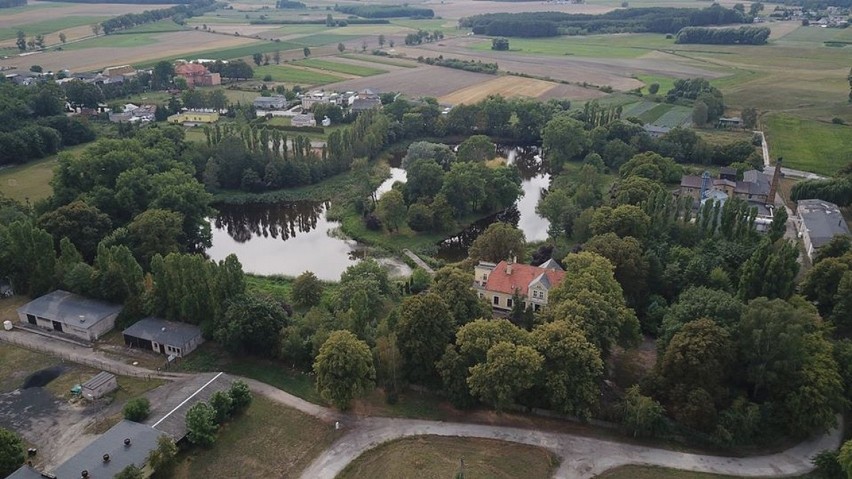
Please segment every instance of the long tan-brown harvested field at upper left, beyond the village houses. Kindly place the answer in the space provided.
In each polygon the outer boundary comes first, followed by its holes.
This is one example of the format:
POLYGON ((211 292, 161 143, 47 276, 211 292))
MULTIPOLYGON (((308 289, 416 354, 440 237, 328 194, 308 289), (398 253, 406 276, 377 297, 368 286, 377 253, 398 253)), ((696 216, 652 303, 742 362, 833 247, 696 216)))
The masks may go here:
POLYGON ((193 52, 225 49, 248 45, 257 40, 251 38, 217 35, 201 31, 182 31, 152 34, 157 40, 153 45, 138 47, 108 48, 94 47, 80 50, 49 51, 24 58, 11 57, 0 60, 2 65, 39 64, 45 70, 96 71, 115 65, 133 65, 164 57, 189 55, 193 52))

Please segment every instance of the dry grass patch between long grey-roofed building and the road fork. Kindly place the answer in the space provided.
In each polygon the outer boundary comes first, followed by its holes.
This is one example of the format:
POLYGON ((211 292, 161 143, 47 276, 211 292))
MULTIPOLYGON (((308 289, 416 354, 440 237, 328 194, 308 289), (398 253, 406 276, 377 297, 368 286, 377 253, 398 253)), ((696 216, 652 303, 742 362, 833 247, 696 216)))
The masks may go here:
POLYGON ((211 448, 181 454, 171 477, 299 477, 338 434, 331 424, 255 395, 243 415, 221 428, 211 448))

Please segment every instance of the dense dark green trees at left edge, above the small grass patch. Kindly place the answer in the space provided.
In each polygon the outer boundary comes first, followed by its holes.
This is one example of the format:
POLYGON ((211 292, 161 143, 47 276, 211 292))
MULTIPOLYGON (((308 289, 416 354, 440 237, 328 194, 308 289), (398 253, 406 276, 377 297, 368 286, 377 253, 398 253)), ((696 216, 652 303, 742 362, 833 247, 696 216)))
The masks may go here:
POLYGON ((85 119, 65 116, 64 96, 53 83, 24 87, 0 80, 0 165, 26 163, 95 139, 85 119))

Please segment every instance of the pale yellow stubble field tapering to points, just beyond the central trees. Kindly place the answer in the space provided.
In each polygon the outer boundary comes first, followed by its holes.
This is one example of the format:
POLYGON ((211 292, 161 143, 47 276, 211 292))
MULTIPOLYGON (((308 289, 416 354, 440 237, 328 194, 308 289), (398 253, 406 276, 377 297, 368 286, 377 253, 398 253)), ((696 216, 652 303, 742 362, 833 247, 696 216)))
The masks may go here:
POLYGON ((500 76, 485 83, 471 85, 449 95, 444 95, 438 98, 438 101, 450 105, 461 103, 471 104, 484 100, 490 95, 500 95, 505 98, 522 96, 528 98, 590 99, 597 98, 602 93, 587 88, 572 87, 571 85, 562 85, 534 78, 500 76), (558 92, 553 92, 553 90, 558 90, 558 92), (551 92, 556 93, 556 95, 551 95, 551 92))

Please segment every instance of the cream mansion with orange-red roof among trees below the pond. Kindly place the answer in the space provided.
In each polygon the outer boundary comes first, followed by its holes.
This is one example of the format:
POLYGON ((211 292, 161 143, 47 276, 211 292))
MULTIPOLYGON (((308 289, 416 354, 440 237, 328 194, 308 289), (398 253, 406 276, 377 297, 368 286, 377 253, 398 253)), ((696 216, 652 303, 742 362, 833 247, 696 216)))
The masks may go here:
POLYGON ((517 293, 524 308, 539 311, 547 305, 550 290, 565 277, 559 263, 550 259, 539 266, 513 260, 497 264, 481 261, 474 269, 474 289, 495 311, 511 311, 517 293))

